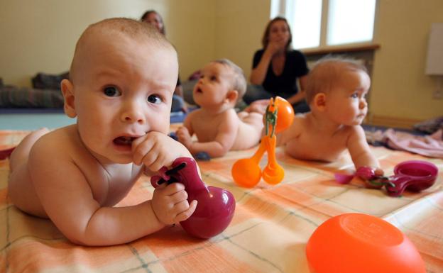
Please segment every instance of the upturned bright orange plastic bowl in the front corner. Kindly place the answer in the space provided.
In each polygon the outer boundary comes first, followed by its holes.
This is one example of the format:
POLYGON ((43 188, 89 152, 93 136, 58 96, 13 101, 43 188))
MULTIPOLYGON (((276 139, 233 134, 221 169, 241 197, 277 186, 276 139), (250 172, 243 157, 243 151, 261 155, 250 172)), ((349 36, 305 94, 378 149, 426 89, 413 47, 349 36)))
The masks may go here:
POLYGON ((411 241, 394 225, 361 213, 335 216, 306 245, 312 273, 426 273, 411 241))

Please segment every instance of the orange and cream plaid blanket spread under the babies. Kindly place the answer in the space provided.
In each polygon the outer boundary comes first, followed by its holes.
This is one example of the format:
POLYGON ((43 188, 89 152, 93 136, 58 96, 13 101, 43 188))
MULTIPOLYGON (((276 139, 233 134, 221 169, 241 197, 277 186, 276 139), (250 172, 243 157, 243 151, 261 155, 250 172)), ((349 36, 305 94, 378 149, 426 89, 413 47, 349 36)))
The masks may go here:
MULTIPOLYGON (((26 132, 0 131, 0 149, 16 145, 26 132)), ((383 218, 412 240, 427 272, 443 272, 443 160, 373 147, 386 174, 405 160, 427 160, 439 168, 437 182, 400 198, 365 189, 363 182, 334 182, 334 173, 351 168, 348 156, 324 164, 294 160, 277 150, 285 179, 276 186, 236 186, 230 169, 256 149, 229 152, 199 162, 204 182, 224 187, 236 198, 231 225, 210 240, 191 238, 180 226, 112 247, 73 245, 48 220, 28 216, 7 198, 8 160, 0 161, 0 273, 3 272, 309 272, 307 240, 324 221, 341 213, 383 218)), ((266 165, 263 157, 261 165, 266 165)), ((141 177, 119 206, 138 204, 153 188, 141 177)))

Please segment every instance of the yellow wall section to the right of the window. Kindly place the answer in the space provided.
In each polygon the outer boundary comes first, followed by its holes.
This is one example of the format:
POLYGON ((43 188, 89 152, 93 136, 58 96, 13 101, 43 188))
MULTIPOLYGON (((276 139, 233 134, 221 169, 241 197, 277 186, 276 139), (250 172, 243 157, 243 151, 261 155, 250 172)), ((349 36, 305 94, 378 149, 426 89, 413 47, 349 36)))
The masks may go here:
MULTIPOLYGON (((370 111, 374 116, 425 120, 443 116, 425 75, 431 24, 443 22, 442 0, 379 0, 370 111)), ((443 50, 443 48, 442 48, 443 50)))

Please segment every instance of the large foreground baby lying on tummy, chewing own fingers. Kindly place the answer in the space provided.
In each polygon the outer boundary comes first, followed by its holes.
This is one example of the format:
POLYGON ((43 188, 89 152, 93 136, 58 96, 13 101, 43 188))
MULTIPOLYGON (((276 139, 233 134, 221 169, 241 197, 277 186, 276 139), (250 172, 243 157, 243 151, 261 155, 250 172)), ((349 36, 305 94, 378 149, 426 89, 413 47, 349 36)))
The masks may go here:
POLYGON ((152 200, 113 207, 143 172, 191 157, 168 137, 177 53, 146 23, 111 18, 77 42, 65 113, 77 124, 31 133, 10 159, 9 198, 50 218, 73 243, 127 243, 184 221, 195 211, 184 186, 162 184, 152 200))

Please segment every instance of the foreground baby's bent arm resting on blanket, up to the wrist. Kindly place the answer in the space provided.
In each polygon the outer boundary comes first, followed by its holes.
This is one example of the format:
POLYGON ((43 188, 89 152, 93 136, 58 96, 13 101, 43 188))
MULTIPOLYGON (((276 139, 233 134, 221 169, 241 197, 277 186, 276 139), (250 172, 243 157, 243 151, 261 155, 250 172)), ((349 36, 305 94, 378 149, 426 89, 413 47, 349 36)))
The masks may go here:
MULTIPOLYGON (((63 235, 80 245, 116 245, 165 226, 155 216, 151 200, 119 208, 100 204, 109 194, 116 194, 107 192, 106 181, 111 178, 106 177, 104 169, 97 169, 99 164, 92 157, 82 155, 81 161, 76 162, 78 148, 53 139, 39 140, 28 160, 33 186, 45 213, 63 235)), ((124 179, 117 182, 128 183, 124 179)))

